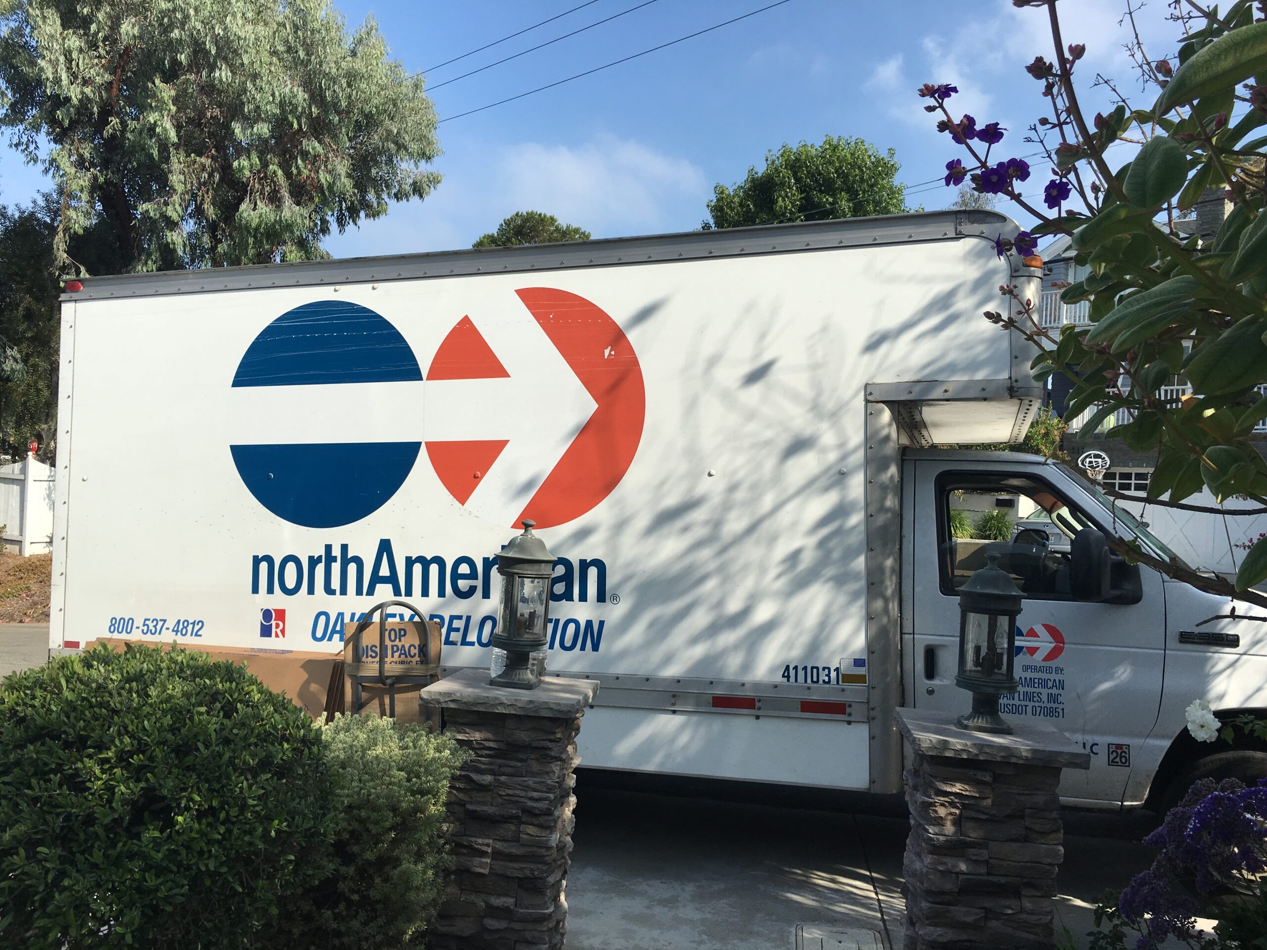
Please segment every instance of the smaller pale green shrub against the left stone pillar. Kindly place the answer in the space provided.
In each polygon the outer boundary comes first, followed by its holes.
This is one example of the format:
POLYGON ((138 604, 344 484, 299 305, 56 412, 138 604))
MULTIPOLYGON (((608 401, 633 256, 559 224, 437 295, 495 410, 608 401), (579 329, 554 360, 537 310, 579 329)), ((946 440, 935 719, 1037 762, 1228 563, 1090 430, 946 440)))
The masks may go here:
POLYGON ((422 726, 370 716, 336 716, 322 733, 340 871, 309 889, 308 906, 294 915, 294 945, 422 946, 451 865, 449 780, 468 754, 422 726))

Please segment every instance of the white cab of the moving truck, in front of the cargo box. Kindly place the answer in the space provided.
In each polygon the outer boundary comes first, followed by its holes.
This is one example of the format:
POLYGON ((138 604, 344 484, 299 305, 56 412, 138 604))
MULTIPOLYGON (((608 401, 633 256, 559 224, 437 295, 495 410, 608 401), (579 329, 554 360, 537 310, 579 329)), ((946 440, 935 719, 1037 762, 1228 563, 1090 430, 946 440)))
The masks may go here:
POLYGON ((1220 719, 1267 707, 1264 612, 1110 552, 1105 536, 1115 535, 1180 562, 1060 462, 906 448, 902 466, 906 706, 964 707, 954 684, 958 589, 995 552, 1024 595, 1019 688, 1001 712, 1052 725, 1091 755, 1090 771, 1062 779, 1068 803, 1164 807, 1201 776, 1267 776, 1261 745, 1240 735, 1197 744, 1183 714, 1195 699, 1220 719))

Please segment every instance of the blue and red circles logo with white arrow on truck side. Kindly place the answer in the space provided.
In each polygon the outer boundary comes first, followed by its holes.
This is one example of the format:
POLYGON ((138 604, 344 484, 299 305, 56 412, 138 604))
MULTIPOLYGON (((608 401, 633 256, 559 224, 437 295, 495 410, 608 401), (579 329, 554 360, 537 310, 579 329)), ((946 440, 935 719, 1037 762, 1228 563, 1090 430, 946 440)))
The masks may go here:
POLYGON ((247 347, 232 398, 242 481, 279 518, 312 528, 381 508, 423 448, 468 510, 506 526, 563 524, 623 478, 646 402, 623 331, 551 288, 462 315, 426 374, 379 313, 303 304, 247 347))

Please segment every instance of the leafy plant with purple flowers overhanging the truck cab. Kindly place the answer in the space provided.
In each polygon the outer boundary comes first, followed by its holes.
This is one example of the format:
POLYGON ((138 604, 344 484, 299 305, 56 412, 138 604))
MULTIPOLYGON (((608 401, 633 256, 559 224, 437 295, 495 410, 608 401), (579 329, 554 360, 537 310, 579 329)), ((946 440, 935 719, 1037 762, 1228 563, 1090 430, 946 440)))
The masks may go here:
MULTIPOLYGON (((1109 81, 1117 105, 1091 118, 1074 81, 1086 47, 1067 43, 1055 0, 1017 5, 1040 9, 1054 51, 1052 61, 1038 56, 1025 67, 1045 104, 1030 132, 1052 167, 1041 187, 1047 212, 1031 201, 1036 182, 1020 184, 1030 177, 1028 162, 992 153, 1006 129, 957 119, 946 106, 958 92, 950 84, 927 84, 919 94, 940 114, 938 128, 967 151, 967 160, 946 166, 946 184, 971 177, 977 191, 1006 196, 1038 220, 1029 232, 1000 236, 1001 255, 1033 253, 1039 236, 1071 236, 1074 261, 1088 272, 1060 296, 1090 301, 1092 326, 1044 327, 1035 301, 1011 285, 1001 288, 1002 310, 986 318, 1039 347, 1036 377, 1059 371, 1077 381, 1067 414, 1090 409, 1086 431, 1119 410, 1130 417, 1110 437, 1157 452, 1150 503, 1218 512, 1183 503, 1207 488, 1220 502, 1243 497, 1259 505, 1226 514, 1267 510, 1267 461, 1252 438, 1267 418, 1267 23, 1256 20, 1249 0, 1224 10, 1188 3, 1172 16, 1173 61, 1148 56, 1138 34, 1128 47, 1149 100, 1133 108, 1109 81), (1114 167, 1109 149, 1119 141, 1143 144, 1114 167), (1180 232, 1178 215, 1210 187, 1233 205, 1218 233, 1180 232), (1167 391, 1176 374, 1191 383, 1192 396, 1167 391)), ((1102 82, 1096 76, 1093 85, 1102 82)), ((1267 580, 1267 538, 1252 545, 1234 584, 1123 538, 1109 545, 1200 589, 1267 607, 1267 594, 1253 589, 1267 580)))

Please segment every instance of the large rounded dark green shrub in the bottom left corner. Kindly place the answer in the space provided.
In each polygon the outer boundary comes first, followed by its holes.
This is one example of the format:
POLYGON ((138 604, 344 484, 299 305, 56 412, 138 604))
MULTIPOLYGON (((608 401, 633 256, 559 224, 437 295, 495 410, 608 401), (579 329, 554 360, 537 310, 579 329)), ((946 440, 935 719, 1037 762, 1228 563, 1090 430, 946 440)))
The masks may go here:
POLYGON ((0 944, 242 947, 331 873, 321 731, 245 668, 98 646, 0 683, 0 944))

